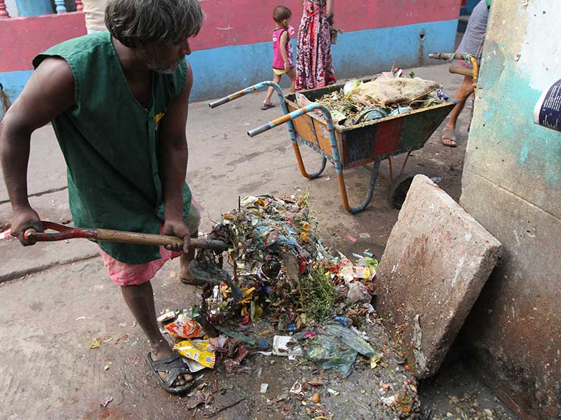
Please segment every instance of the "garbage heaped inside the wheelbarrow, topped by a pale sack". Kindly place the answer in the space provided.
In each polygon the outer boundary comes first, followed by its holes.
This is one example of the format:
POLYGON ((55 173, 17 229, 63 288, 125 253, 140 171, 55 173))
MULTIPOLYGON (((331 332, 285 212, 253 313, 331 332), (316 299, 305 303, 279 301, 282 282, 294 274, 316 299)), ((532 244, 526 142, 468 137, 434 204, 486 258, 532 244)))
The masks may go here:
MULTIPOLYGON (((336 125, 351 127, 447 101, 448 96, 439 83, 402 76, 403 71, 396 68, 367 82, 350 80, 342 89, 327 93, 316 102, 330 109, 336 125)), ((302 93, 296 97, 299 106, 311 103, 302 93)))

